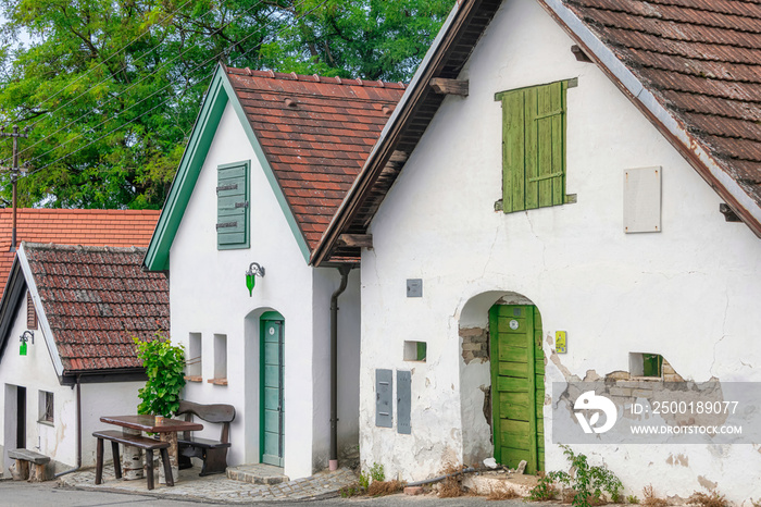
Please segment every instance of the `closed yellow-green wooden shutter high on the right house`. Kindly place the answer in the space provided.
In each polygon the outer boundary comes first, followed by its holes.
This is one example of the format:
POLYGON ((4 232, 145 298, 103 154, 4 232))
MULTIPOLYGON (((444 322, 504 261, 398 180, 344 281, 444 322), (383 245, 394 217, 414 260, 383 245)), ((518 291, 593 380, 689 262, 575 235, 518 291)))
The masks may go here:
POLYGON ((497 94, 502 101, 502 210, 565 198, 566 82, 497 94))

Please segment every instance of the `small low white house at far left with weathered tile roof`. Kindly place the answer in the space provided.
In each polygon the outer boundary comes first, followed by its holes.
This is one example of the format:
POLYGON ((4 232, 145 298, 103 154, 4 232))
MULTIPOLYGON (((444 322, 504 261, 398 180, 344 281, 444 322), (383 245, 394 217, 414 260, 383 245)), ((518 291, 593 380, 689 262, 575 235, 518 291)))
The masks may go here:
POLYGON ((145 252, 22 243, 0 301, 5 469, 15 448, 49 456, 55 473, 91 467, 100 418, 137 412, 133 338, 169 327, 169 284, 141 270, 145 252))

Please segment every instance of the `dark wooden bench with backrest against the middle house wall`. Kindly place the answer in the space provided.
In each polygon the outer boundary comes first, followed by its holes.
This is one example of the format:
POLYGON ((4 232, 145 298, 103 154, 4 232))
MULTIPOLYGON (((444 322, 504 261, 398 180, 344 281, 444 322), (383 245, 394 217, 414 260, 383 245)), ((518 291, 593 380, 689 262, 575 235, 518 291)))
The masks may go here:
POLYGON ((207 422, 221 423, 222 433, 219 441, 191 436, 188 431, 177 435, 179 469, 184 470, 192 467, 190 458, 201 458, 203 460, 201 477, 225 473, 227 469, 227 449, 230 446, 229 423, 235 419, 235 407, 222 404, 201 405, 183 400, 179 401, 179 409, 177 409, 177 416, 182 415, 185 415, 186 421, 191 421, 195 416, 207 422))

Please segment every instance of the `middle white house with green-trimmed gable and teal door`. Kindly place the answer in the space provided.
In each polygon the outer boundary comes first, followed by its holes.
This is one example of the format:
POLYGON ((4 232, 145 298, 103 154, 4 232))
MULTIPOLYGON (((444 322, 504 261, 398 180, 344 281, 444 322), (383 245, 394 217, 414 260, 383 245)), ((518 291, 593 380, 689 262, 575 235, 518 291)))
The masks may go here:
POLYGON ((236 408, 229 465, 265 462, 297 479, 357 454, 357 262, 314 269, 308 260, 402 92, 399 84, 216 71, 145 265, 171 272, 172 339, 190 361, 185 398, 236 408), (249 294, 254 262, 263 276, 249 294))

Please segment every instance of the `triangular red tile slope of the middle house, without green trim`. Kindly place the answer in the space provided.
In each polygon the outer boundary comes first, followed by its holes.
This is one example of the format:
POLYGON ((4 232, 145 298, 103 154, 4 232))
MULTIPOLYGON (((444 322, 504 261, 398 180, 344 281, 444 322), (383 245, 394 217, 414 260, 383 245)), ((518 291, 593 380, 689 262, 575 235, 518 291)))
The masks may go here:
POLYGON ((404 85, 232 67, 227 76, 312 250, 404 85))

